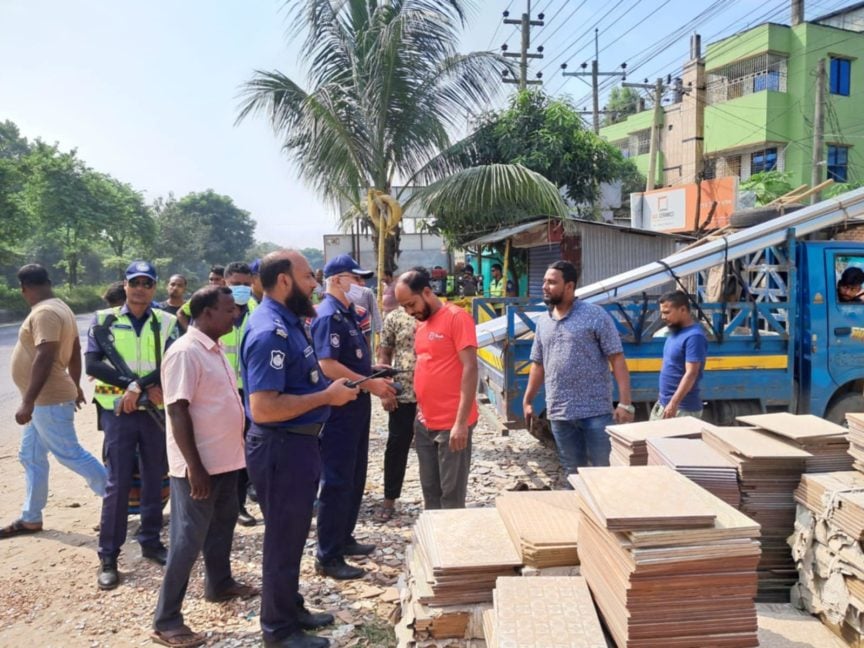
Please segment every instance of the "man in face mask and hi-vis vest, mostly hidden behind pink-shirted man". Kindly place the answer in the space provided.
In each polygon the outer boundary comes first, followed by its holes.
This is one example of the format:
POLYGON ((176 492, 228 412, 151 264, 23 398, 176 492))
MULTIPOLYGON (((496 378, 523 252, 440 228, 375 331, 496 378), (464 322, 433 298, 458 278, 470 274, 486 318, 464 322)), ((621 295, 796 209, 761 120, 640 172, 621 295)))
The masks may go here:
MULTIPOLYGON (((243 399, 243 376, 240 371, 240 342, 243 340, 243 332, 249 315, 255 310, 258 302, 252 297, 252 269, 247 263, 234 261, 225 268, 225 285, 231 289, 234 296, 234 305, 237 307, 234 317, 234 328, 226 333, 219 341, 222 342, 225 357, 228 364, 234 369, 234 377, 237 379, 237 389, 240 391, 240 399, 243 399)), ((243 426, 243 436, 249 430, 249 419, 243 426)), ((249 475, 245 468, 237 473, 237 501, 240 504, 240 513, 237 516, 237 524, 243 526, 255 526, 258 521, 246 510, 246 494, 250 489, 249 475)))

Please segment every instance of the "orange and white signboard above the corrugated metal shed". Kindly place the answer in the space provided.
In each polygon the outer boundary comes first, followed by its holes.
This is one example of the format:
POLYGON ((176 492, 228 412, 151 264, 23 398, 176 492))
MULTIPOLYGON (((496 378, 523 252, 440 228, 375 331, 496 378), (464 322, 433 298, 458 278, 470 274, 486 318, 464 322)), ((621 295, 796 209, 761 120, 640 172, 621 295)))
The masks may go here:
POLYGON ((630 197, 633 227, 654 232, 693 232, 729 224, 738 197, 738 178, 703 180, 696 184, 654 189, 630 197), (699 204, 697 224, 697 203, 699 204), (713 210, 713 213, 712 213, 713 210), (710 220, 709 220, 710 217, 710 220))

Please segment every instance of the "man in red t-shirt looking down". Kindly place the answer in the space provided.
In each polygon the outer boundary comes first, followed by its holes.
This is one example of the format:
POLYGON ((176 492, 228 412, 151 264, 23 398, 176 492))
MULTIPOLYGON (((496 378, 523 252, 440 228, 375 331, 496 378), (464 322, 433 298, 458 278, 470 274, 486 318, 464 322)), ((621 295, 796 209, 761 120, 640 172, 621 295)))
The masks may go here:
POLYGON ((414 434, 423 502, 427 509, 464 508, 477 423, 474 321, 438 299, 423 268, 399 277, 396 299, 420 322, 414 336, 414 434))

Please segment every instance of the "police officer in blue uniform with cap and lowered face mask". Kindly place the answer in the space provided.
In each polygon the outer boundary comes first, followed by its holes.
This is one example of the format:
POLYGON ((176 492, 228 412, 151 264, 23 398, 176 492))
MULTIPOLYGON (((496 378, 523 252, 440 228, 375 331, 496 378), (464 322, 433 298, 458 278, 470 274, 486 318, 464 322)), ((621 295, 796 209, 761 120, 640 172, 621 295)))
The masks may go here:
MULTIPOLYGON (((321 368, 331 380, 358 380, 372 372, 369 346, 347 296, 353 277, 371 274, 347 254, 324 266, 327 294, 318 305, 312 337, 321 368)), ((375 545, 361 544, 354 538, 369 458, 369 394, 382 399, 395 399, 396 395, 392 381, 383 378, 365 381, 361 392, 357 400, 333 408, 321 434, 323 477, 318 496, 316 570, 337 579, 360 578, 364 574, 359 567, 346 563, 345 556, 365 556, 375 550, 375 545)))

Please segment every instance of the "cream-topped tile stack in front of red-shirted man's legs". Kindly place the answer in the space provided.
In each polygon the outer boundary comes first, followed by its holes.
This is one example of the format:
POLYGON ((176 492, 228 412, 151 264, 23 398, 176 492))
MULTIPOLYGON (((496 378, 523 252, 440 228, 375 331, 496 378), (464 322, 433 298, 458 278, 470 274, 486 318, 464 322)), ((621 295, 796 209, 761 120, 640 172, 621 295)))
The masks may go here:
POLYGON ((425 511, 414 525, 413 550, 428 588, 423 605, 492 600, 499 576, 512 576, 521 559, 494 508, 425 511))

